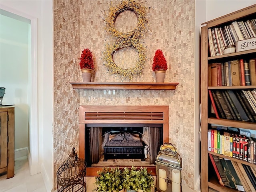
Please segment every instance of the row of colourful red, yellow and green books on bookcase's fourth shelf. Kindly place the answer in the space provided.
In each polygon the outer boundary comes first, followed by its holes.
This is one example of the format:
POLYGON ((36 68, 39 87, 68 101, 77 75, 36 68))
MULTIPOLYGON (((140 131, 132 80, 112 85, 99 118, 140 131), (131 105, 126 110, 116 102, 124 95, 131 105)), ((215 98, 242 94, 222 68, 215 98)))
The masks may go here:
POLYGON ((237 128, 209 129, 208 151, 256 164, 256 139, 240 134, 237 128))

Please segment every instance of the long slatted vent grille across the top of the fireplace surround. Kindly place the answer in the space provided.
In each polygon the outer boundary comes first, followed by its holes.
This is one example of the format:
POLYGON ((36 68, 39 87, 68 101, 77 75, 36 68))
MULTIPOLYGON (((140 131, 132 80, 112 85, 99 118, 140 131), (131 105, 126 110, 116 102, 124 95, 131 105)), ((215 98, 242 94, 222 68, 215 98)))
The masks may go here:
POLYGON ((85 112, 85 120, 164 120, 164 112, 85 112))

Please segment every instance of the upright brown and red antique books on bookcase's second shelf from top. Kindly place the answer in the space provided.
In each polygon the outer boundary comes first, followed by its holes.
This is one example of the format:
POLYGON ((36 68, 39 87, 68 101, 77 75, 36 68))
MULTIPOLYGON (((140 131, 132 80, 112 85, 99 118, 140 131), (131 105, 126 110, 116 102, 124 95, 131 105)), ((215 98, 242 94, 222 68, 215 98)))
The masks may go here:
POLYGON ((256 85, 256 59, 237 59, 208 65, 208 86, 256 85))

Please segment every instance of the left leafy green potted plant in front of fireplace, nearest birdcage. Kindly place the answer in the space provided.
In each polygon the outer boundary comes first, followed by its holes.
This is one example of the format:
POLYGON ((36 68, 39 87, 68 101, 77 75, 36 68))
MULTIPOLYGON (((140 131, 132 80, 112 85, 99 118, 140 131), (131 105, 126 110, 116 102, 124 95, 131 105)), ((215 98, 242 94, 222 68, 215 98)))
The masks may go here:
POLYGON ((123 188, 122 170, 119 167, 104 167, 97 172, 94 184, 98 185, 93 191, 118 192, 123 188))

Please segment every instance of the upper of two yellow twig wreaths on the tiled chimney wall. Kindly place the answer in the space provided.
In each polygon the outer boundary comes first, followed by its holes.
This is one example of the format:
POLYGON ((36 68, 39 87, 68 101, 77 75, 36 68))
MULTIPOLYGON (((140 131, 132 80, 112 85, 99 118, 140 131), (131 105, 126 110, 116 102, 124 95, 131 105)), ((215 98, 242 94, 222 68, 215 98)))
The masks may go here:
POLYGON ((141 2, 138 2, 136 0, 123 0, 122 2, 119 2, 116 6, 112 6, 111 2, 109 14, 105 16, 105 18, 103 18, 103 20, 106 22, 106 30, 116 39, 142 38, 144 36, 143 32, 148 30, 146 9, 147 8, 143 6, 141 2), (117 16, 126 10, 133 11, 136 14, 138 23, 134 30, 127 33, 122 33, 116 30, 114 23, 117 16))

